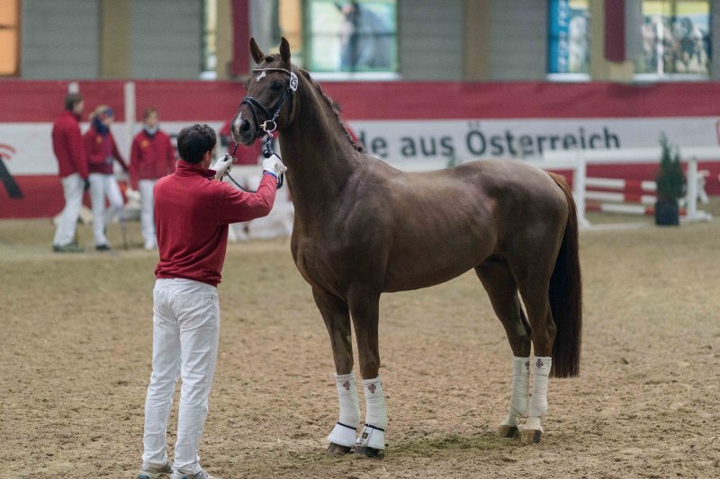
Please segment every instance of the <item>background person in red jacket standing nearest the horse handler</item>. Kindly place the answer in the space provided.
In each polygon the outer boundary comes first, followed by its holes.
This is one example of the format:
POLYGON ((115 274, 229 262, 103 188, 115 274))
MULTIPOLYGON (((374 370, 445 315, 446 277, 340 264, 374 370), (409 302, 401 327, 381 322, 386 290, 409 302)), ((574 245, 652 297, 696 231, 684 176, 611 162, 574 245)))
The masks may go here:
POLYGON ((152 189, 157 180, 175 171, 175 148, 158 122, 155 108, 145 110, 142 131, 130 147, 130 186, 140 193, 140 226, 146 250, 157 248, 152 189))

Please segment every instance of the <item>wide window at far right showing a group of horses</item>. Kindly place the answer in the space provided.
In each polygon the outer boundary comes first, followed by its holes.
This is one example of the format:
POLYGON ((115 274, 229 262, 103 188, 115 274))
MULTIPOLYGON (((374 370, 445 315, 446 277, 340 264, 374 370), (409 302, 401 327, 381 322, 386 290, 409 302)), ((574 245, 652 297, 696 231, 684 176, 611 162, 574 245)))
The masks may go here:
POLYGON ((644 0, 643 49, 635 73, 700 74, 710 69, 710 5, 698 0, 644 0))

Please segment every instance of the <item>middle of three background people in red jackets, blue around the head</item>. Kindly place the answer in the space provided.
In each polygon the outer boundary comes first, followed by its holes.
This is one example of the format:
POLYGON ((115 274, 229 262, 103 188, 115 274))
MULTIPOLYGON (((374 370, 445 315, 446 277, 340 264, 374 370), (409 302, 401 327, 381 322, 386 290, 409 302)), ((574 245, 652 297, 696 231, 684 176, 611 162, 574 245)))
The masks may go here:
POLYGON ((122 169, 127 172, 128 165, 115 145, 110 126, 112 125, 112 108, 106 105, 98 106, 90 115, 90 129, 85 133, 85 155, 87 155, 87 169, 90 172, 90 200, 93 203, 93 237, 95 249, 98 251, 110 250, 105 228, 112 218, 117 216, 122 221, 122 193, 118 181, 112 170, 117 160, 122 169), (105 198, 110 202, 110 208, 105 208, 105 198))

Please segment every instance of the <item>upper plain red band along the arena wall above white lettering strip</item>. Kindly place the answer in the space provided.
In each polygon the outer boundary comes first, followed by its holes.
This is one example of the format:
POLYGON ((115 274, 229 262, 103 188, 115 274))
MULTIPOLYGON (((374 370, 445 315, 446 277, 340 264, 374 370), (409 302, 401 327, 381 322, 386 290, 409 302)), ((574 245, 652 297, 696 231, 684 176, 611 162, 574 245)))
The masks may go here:
MULTIPOLYGON (((245 94, 232 81, 137 81, 138 119, 156 106, 163 120, 229 120, 245 94)), ((720 117, 716 82, 650 85, 547 82, 322 82, 348 120, 720 117)), ((67 82, 0 81, 0 122, 51 122, 67 82)), ((111 105, 124 120, 122 82, 80 82, 85 115, 111 105)))

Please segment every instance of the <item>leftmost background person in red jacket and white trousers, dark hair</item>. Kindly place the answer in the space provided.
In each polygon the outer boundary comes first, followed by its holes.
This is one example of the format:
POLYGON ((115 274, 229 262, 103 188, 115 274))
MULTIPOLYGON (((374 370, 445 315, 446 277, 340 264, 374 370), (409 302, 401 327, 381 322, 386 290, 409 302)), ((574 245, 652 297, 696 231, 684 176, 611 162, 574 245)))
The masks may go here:
POLYGON ((52 125, 52 149, 58 158, 60 182, 65 196, 65 208, 60 214, 52 240, 52 249, 58 253, 83 251, 74 238, 88 174, 79 125, 84 104, 79 93, 68 93, 65 97, 65 111, 52 125))

